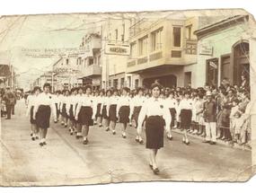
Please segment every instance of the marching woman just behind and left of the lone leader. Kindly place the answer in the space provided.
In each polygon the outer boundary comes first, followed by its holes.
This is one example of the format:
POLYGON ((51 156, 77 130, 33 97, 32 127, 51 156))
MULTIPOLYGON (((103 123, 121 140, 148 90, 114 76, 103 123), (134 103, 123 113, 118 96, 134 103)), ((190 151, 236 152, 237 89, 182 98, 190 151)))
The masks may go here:
MULTIPOLYGON (((144 96, 143 88, 137 89, 137 95, 132 99, 130 104, 130 115, 129 118, 133 118, 135 120, 135 128, 137 128, 137 119, 139 112, 146 101, 146 97, 144 96)), ((144 141, 141 137, 141 132, 137 130, 136 142, 143 145, 144 141)))

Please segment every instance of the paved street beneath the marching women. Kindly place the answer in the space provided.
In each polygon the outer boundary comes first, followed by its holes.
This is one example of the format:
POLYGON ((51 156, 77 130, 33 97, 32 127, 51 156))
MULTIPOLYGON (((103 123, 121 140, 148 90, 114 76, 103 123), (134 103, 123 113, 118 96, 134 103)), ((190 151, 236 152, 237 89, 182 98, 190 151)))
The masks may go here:
POLYGON ((135 142, 136 131, 128 138, 92 127, 89 145, 70 136, 68 128, 51 124, 47 143, 31 141, 29 118, 24 101, 18 101, 11 120, 2 118, 1 148, 5 185, 63 185, 146 180, 247 180, 251 152, 226 145, 206 145, 190 137, 190 145, 165 140, 158 154, 159 175, 148 167, 145 145, 135 142))

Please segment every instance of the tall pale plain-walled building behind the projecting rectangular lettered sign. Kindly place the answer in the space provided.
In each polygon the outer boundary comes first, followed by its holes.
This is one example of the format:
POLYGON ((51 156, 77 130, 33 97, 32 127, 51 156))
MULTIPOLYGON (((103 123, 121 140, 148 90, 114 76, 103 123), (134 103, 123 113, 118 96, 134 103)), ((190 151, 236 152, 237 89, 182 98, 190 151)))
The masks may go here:
POLYGON ((129 33, 131 20, 109 19, 102 25, 102 88, 130 86, 127 60, 130 54, 129 33))

